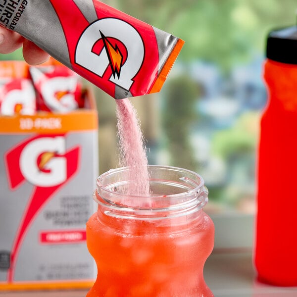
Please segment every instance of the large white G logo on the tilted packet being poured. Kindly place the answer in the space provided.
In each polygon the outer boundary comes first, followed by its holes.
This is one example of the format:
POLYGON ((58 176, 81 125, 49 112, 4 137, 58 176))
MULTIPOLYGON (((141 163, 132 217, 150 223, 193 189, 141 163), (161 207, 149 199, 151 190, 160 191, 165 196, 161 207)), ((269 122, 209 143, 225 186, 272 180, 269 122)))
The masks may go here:
POLYGON ((143 40, 133 26, 120 19, 104 18, 93 22, 81 35, 75 62, 99 77, 110 66, 109 81, 129 91, 144 55, 143 40))

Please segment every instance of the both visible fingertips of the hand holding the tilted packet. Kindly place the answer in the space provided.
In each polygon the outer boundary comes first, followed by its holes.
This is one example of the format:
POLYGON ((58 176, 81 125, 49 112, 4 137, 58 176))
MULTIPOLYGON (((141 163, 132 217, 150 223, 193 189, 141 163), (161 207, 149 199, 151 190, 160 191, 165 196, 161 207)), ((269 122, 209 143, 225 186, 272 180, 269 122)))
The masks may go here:
POLYGON ((49 54, 33 42, 16 32, 0 27, 0 53, 10 53, 23 47, 23 56, 30 65, 38 65, 48 60, 49 54))

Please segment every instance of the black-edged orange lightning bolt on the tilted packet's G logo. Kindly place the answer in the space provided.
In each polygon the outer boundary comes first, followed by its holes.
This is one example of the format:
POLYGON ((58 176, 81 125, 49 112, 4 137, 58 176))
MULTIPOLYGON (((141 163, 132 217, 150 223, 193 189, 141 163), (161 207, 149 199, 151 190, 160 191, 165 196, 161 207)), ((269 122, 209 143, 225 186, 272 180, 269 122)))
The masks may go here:
POLYGON ((108 56, 113 77, 117 75, 117 77, 120 78, 121 68, 123 66, 123 55, 117 45, 114 47, 101 31, 100 34, 108 56))

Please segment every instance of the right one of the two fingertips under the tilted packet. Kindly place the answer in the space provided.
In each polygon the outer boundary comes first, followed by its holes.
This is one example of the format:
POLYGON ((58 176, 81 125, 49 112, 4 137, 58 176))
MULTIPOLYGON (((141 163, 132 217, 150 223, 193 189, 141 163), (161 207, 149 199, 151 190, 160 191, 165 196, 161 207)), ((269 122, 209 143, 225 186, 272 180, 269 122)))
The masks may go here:
POLYGON ((23 43, 23 56, 25 61, 30 65, 38 65, 49 59, 47 52, 27 39, 23 43))

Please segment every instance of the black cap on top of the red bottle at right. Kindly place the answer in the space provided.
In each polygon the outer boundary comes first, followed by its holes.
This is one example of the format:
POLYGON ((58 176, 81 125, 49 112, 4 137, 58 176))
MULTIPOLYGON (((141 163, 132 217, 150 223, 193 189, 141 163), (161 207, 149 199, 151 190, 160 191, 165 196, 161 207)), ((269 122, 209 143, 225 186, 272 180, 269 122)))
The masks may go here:
POLYGON ((271 31, 267 38, 266 57, 281 63, 297 64, 297 26, 271 31))

